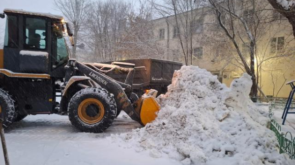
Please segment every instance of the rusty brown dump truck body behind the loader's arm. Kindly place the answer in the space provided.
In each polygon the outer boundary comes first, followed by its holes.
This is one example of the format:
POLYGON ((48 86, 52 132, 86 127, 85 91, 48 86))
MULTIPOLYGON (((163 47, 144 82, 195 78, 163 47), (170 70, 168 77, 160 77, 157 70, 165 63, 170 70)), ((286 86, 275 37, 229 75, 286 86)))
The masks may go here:
MULTIPOLYGON (((114 61, 104 63, 111 64, 114 61)), ((133 80, 133 92, 141 96, 149 89, 158 91, 157 95, 167 92, 167 86, 171 84, 175 70, 182 66, 181 62, 169 61, 163 59, 145 58, 145 59, 127 59, 118 62, 133 63, 135 68, 133 80)), ((126 74, 111 72, 108 76, 124 82, 126 74)))

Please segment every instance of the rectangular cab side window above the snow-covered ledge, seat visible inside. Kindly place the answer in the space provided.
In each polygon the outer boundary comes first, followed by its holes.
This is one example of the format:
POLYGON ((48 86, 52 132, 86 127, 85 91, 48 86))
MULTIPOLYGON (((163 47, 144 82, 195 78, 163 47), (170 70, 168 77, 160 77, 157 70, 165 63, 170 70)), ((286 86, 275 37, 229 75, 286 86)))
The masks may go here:
POLYGON ((46 20, 26 18, 24 48, 30 50, 46 49, 46 20))

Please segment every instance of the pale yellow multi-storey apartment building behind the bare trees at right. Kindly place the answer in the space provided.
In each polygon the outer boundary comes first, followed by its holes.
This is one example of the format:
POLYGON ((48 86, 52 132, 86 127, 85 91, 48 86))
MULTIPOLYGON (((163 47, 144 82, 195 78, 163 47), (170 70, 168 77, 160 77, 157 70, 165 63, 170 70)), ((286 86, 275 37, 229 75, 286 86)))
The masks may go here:
MULTIPOLYGON (((261 1, 268 3, 265 0, 261 1)), ((257 12, 251 6, 242 9, 240 13, 249 22, 257 18, 257 12)), ((266 4, 264 11, 260 11, 258 15, 267 15, 267 18, 261 17, 265 19, 261 23, 263 25, 256 29, 259 30, 256 34, 260 35, 257 37, 255 50, 255 68, 262 91, 260 95, 288 97, 290 87, 286 82, 295 79, 295 41, 291 35, 292 27, 288 20, 272 10, 269 4, 266 4)), ((228 16, 221 17, 226 25, 225 17, 228 16)), ((153 34, 157 38, 157 44, 164 48, 165 59, 185 63, 185 53, 188 64, 191 64, 191 61, 192 65, 207 69, 227 86, 244 73, 233 42, 225 35, 224 29, 219 26, 217 16, 210 8, 202 7, 188 13, 180 13, 177 17, 153 20, 153 34)), ((242 39, 245 37, 244 34, 238 37, 241 38, 238 39, 238 47, 247 62, 250 62, 249 43, 242 39)))

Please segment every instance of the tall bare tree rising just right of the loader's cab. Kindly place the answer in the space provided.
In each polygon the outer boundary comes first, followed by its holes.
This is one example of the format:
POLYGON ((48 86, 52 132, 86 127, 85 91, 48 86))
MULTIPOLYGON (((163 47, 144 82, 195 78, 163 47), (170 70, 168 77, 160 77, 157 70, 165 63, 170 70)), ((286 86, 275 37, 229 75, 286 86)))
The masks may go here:
POLYGON ((72 58, 76 57, 76 45, 79 31, 88 14, 89 0, 54 0, 57 9, 74 25, 74 44, 72 58))

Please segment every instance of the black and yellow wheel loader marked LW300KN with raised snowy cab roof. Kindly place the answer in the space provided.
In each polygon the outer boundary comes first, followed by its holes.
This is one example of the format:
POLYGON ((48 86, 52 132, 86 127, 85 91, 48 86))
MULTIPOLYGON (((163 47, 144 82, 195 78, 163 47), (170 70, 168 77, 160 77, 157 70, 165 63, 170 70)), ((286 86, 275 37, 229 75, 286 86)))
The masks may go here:
POLYGON ((4 47, 0 50, 0 116, 8 127, 29 114, 68 115, 82 132, 100 133, 125 111, 146 125, 160 109, 156 90, 141 98, 132 92, 132 63, 83 63, 69 59, 65 36, 73 33, 63 18, 50 13, 4 9, 4 47), (124 83, 108 76, 127 74, 124 83), (57 98, 61 97, 60 102, 57 98))

